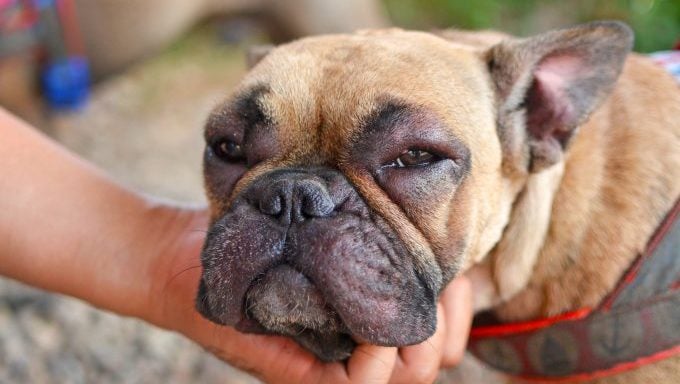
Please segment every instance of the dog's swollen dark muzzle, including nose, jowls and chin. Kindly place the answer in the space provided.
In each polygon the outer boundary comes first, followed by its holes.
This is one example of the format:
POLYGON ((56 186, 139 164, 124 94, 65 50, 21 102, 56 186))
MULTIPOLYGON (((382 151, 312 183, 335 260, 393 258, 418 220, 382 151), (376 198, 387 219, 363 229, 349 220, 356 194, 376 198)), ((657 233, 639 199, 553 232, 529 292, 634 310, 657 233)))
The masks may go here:
POLYGON ((197 308, 246 332, 295 338, 324 360, 353 339, 408 345, 435 328, 435 292, 393 229, 332 169, 254 181, 211 228, 197 308))

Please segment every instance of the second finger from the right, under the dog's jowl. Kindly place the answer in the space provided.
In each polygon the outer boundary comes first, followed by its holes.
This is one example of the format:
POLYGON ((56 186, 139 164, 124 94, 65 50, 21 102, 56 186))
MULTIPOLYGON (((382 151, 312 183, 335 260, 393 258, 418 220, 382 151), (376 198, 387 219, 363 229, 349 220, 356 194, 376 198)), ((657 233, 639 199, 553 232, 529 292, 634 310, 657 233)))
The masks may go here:
POLYGON ((390 383, 432 383, 439 374, 446 341, 446 326, 442 324, 444 308, 437 305, 437 330, 418 345, 401 348, 390 383))

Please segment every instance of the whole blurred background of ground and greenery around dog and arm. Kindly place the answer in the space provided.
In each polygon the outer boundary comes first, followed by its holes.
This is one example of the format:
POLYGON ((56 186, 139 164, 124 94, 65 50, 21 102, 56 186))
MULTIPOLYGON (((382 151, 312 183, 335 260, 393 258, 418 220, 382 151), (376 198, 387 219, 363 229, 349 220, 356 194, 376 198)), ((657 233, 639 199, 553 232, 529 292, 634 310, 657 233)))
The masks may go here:
MULTIPOLYGON (((0 0, 0 106, 131 188, 201 204, 202 125, 249 45, 595 19, 628 22, 639 52, 680 40, 678 0, 0 0)), ((441 381, 494 382, 471 358, 441 381)), ((256 381, 172 333, 0 279, 0 383, 161 382, 256 381)))

